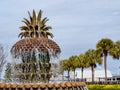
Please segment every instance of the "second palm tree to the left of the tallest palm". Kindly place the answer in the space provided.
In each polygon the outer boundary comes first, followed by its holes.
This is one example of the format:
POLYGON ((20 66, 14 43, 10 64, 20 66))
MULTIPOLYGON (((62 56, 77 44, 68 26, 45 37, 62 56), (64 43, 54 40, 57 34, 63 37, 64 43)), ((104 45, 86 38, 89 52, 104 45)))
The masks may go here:
POLYGON ((85 54, 80 54, 77 58, 77 67, 81 68, 81 78, 83 81, 83 71, 84 68, 87 67, 87 61, 86 61, 86 55, 85 54))

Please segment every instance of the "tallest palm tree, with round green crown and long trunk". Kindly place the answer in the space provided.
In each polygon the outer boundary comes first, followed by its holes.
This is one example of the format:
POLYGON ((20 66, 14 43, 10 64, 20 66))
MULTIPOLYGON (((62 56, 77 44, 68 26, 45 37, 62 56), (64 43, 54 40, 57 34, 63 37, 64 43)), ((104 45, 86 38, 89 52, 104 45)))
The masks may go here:
POLYGON ((97 43, 96 47, 101 56, 104 56, 105 83, 107 83, 107 56, 114 48, 114 43, 111 39, 103 38, 97 43))

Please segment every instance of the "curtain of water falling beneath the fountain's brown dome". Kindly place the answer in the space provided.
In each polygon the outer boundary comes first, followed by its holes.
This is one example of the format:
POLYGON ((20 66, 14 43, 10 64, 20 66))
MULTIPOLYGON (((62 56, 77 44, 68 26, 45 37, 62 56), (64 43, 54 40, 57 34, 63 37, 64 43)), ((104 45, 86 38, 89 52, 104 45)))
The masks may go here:
MULTIPOLYGON (((21 57, 14 59, 13 62, 13 66, 15 67, 14 76, 17 76, 18 74, 20 76, 21 73, 21 77, 23 77, 22 81, 24 82, 27 82, 27 79, 32 80, 33 82, 36 81, 36 79, 39 80, 40 78, 42 79, 39 81, 43 82, 44 80, 47 80, 47 78, 49 78, 50 73, 54 75, 54 77, 56 77, 58 75, 58 70, 59 70, 59 59, 58 59, 59 54, 57 54, 57 58, 55 58, 54 53, 55 52, 53 50, 44 53, 38 52, 37 48, 32 50, 32 52, 24 51, 21 52, 21 54, 15 53, 16 57, 18 57, 19 55, 21 55, 21 57), (51 55, 54 56, 52 57, 51 55), (27 73, 31 73, 31 74, 27 75, 27 73), (29 78, 27 76, 29 76, 29 78), (32 78, 34 78, 34 80, 32 78)), ((47 82, 48 81, 49 79, 47 80, 47 82)))

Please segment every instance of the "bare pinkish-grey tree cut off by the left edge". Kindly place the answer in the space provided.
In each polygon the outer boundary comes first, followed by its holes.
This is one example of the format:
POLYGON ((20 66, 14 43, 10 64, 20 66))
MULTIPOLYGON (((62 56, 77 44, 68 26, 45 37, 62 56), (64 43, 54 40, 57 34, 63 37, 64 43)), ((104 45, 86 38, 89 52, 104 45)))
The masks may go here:
POLYGON ((0 45, 0 76, 1 76, 5 63, 6 63, 6 53, 2 45, 0 45))

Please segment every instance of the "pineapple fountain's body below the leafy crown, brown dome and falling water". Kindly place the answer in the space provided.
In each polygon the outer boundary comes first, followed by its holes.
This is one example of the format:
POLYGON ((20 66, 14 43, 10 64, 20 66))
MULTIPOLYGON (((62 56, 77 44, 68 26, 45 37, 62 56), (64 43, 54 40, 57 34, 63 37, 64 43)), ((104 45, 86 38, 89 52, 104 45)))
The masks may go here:
MULTIPOLYGON (((13 45, 14 77, 20 82, 49 82, 51 58, 59 57, 60 48, 47 38, 27 38, 13 45)), ((54 62, 52 62, 54 63, 54 62)))

